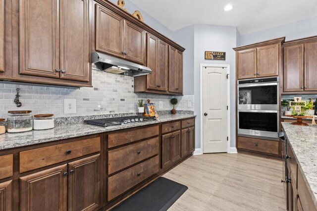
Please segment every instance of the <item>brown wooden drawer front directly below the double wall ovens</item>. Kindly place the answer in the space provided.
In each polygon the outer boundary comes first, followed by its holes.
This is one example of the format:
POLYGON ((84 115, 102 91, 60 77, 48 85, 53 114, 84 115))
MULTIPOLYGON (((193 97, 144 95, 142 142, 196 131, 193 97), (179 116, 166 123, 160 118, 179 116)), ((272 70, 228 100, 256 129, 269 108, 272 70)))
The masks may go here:
POLYGON ((238 136, 238 148, 244 150, 257 151, 261 153, 268 153, 277 156, 279 155, 278 141, 238 136))

